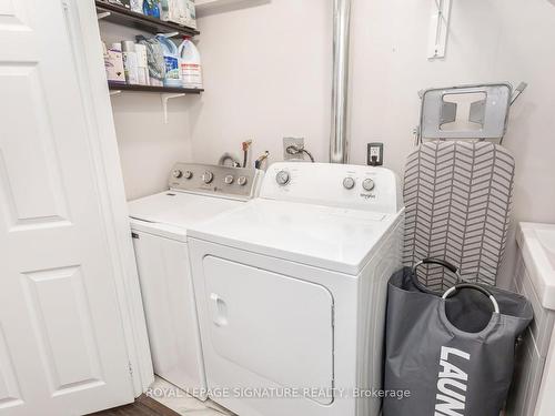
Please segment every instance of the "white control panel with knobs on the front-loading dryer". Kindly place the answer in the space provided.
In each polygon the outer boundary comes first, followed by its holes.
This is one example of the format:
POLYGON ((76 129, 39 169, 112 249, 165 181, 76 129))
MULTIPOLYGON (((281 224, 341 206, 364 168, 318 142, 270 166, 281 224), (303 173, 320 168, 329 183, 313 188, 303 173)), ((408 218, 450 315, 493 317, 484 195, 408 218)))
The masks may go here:
POLYGON ((401 181, 385 168, 330 163, 274 163, 261 197, 394 214, 403 207, 401 181))

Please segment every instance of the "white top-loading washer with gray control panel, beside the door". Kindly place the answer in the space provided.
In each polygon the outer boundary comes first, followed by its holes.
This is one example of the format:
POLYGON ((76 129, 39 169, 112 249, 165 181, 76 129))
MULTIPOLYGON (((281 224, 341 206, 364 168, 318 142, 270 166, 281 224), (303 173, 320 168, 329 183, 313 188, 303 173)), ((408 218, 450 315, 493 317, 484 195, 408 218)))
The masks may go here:
POLYGON ((256 195, 261 172, 178 163, 170 190, 129 203, 154 373, 206 398, 186 231, 256 195))

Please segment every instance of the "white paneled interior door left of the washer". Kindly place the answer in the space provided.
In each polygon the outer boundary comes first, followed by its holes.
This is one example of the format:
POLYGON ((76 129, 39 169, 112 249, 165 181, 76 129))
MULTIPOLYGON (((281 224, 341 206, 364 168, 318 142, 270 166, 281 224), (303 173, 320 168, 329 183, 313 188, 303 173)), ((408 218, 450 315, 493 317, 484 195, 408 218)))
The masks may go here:
POLYGON ((62 1, 0 0, 0 415, 133 399, 75 72, 62 1))

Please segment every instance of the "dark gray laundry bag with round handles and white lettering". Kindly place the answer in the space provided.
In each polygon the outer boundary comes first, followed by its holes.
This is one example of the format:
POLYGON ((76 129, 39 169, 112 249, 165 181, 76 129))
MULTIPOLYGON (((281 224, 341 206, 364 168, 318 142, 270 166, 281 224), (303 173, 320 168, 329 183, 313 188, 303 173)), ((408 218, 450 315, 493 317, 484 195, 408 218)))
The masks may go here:
MULTIPOLYGON (((515 345, 533 317, 517 294, 458 283, 444 294, 422 285, 418 265, 389 282, 383 416, 500 416, 513 378, 515 345)), ((460 278, 458 278, 460 281, 460 278)))

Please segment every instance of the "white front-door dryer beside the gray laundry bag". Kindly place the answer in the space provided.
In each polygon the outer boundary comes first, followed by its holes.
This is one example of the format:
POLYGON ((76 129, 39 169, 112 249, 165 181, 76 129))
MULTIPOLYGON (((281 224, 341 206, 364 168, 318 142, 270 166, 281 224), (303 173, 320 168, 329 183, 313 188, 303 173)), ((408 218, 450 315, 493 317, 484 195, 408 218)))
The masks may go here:
POLYGON ((400 191, 386 169, 276 163, 260 197, 190 230, 213 400, 240 416, 379 415, 400 191))

